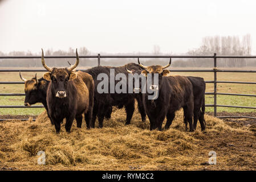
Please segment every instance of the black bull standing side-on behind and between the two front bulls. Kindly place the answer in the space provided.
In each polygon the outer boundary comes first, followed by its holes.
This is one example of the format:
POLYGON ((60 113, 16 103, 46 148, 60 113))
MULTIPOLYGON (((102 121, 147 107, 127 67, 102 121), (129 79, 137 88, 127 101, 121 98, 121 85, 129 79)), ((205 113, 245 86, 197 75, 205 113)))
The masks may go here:
MULTIPOLYGON (((127 93, 98 93, 97 85, 101 80, 97 80, 97 76, 100 73, 105 73, 108 78, 110 76, 110 69, 115 69, 115 76, 117 73, 124 73, 128 78, 128 72, 125 67, 128 69, 141 70, 138 64, 129 63, 122 67, 94 67, 91 69, 87 69, 85 72, 89 73, 94 78, 95 83, 95 92, 94 92, 94 109, 92 113, 91 127, 95 127, 96 116, 99 120, 99 127, 103 127, 103 120, 105 118, 111 117, 112 106, 117 106, 119 109, 123 106, 125 107, 125 111, 127 113, 126 123, 129 124, 132 119, 133 112, 135 110, 135 99, 138 103, 138 109, 141 114, 142 121, 145 121, 145 109, 142 103, 141 94, 128 93, 128 85, 127 85, 127 93)), ((110 78, 109 78, 110 79, 110 78)), ((128 80, 128 79, 127 79, 128 80)), ((115 85, 119 81, 115 80, 115 85)), ((110 88, 110 80, 108 80, 108 88, 110 88)), ((127 81, 128 84, 128 81, 127 81)))

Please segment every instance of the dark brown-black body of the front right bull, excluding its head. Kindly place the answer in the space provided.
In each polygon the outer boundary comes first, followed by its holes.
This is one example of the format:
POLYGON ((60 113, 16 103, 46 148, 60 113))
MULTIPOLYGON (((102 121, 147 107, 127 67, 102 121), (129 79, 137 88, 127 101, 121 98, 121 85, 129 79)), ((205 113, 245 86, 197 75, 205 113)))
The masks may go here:
POLYGON ((184 76, 163 76, 159 78, 159 96, 148 100, 148 93, 143 94, 143 103, 150 121, 150 130, 162 130, 162 122, 167 118, 168 128, 175 116, 175 111, 184 109, 185 122, 189 122, 193 131, 193 87, 184 76))

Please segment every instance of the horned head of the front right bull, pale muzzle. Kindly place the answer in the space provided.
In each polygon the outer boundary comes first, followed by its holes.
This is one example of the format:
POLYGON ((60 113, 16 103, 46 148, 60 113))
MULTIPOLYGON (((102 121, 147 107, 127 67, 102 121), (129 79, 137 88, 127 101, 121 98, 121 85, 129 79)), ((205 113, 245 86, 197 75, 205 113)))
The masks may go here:
POLYGON ((159 89, 159 85, 161 84, 161 81, 162 81, 162 77, 163 76, 167 76, 170 72, 169 70, 165 69, 165 68, 168 68, 170 66, 170 64, 172 63, 172 59, 170 58, 170 61, 169 61, 169 64, 165 65, 164 67, 162 67, 161 65, 152 65, 152 66, 145 66, 143 64, 140 63, 140 60, 138 58, 138 63, 140 65, 141 68, 144 68, 143 71, 141 71, 141 75, 147 77, 148 76, 148 73, 151 73, 152 74, 152 85, 150 85, 150 89, 152 90, 156 90, 156 89, 159 89), (154 79, 154 76, 157 74, 158 75, 158 84, 155 84, 155 79, 154 79))

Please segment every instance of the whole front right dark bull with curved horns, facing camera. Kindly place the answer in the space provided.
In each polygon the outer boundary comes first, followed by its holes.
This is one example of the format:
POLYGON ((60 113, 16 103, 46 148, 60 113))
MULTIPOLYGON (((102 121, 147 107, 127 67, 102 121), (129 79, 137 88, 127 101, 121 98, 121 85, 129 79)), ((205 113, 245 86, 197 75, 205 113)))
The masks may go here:
MULTIPOLYGON (((158 128, 161 131, 162 122, 164 121, 165 116, 167 118, 165 128, 168 128, 175 116, 175 111, 183 107, 184 121, 185 123, 189 123, 190 131, 194 131, 193 87, 188 78, 184 76, 168 76, 169 71, 165 68, 170 66, 171 59, 169 64, 164 67, 161 65, 152 65, 147 67, 141 64, 139 59, 138 63, 141 68, 144 68, 144 70, 141 71, 141 75, 150 79, 150 77, 148 78, 148 74, 152 74, 151 84, 147 84, 145 93, 143 93, 143 104, 151 123, 150 130, 158 128), (158 80, 155 80, 155 76, 153 76, 155 74, 157 74, 158 80), (158 97, 149 100, 148 98, 149 96, 152 96, 152 94, 149 93, 148 90, 156 92, 158 97)), ((127 71, 129 73, 133 73, 128 69, 127 71)), ((142 87, 143 85, 141 85, 141 88, 142 87)))

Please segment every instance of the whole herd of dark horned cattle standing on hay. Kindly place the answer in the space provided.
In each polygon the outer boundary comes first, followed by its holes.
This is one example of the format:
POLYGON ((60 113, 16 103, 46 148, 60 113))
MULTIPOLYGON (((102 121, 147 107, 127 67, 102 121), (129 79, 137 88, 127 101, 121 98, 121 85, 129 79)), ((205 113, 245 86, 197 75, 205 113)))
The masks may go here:
MULTIPOLYGON (((47 110, 51 124, 55 125, 56 133, 60 131, 60 123, 66 118, 65 128, 70 132, 72 123, 76 119, 77 127, 82 126, 82 119, 86 121, 87 129, 95 127, 96 117, 99 127, 103 127, 104 118, 111 118, 112 107, 117 106, 121 109, 125 107, 126 125, 129 125, 135 110, 135 100, 141 114, 141 121, 144 122, 146 114, 150 122, 150 130, 162 130, 162 122, 167 119, 165 129, 168 129, 175 117, 175 111, 184 110, 184 123, 189 131, 194 131, 197 121, 200 121, 201 130, 205 130, 205 81, 201 77, 192 76, 169 76, 168 65, 145 66, 129 63, 121 67, 97 66, 87 69, 85 72, 75 69, 79 64, 79 56, 76 50, 76 63, 69 68, 50 68, 46 65, 42 49, 42 65, 48 71, 42 78, 31 78, 25 81, 25 106, 31 106, 41 102, 47 110), (158 98, 148 100, 150 93, 99 93, 97 85, 100 80, 97 76, 105 73, 109 76, 110 69, 115 69, 115 75, 124 73, 141 74, 146 77, 149 73, 159 74, 157 85, 158 98)), ((109 83, 109 82, 108 82, 109 83)), ((141 86, 141 82, 140 82, 141 86)), ((156 86, 154 82, 151 87, 156 86)), ((109 85, 108 85, 109 88, 109 85)), ((136 89, 136 88, 134 88, 136 89)))

